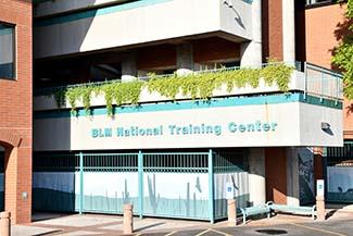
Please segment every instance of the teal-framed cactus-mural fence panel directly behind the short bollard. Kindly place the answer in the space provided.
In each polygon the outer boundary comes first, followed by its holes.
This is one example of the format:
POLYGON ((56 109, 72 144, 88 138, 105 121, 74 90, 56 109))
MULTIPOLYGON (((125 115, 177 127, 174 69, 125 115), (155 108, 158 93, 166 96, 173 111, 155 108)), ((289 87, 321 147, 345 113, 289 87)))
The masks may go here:
POLYGON ((84 212, 123 213, 125 203, 138 213, 138 153, 84 154, 84 212))

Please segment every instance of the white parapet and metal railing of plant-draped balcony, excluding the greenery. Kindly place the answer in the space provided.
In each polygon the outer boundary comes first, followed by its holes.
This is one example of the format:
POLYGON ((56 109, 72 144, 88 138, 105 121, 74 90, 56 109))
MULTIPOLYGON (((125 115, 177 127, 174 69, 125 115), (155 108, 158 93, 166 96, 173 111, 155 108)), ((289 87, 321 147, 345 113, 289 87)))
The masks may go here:
MULTIPOLYGON (((333 99, 340 101, 343 99, 342 92, 342 75, 336 73, 330 70, 326 70, 310 63, 304 63, 304 67, 301 66, 300 62, 295 63, 283 63, 283 62, 272 62, 265 63, 262 67, 266 67, 268 65, 280 65, 286 64, 293 69, 293 72, 290 75, 288 82, 288 91, 302 91, 305 96, 313 95, 316 97, 320 97, 322 99, 333 99)), ((225 72, 236 72, 241 70, 242 67, 223 67, 223 69, 215 69, 215 70, 206 70, 206 71, 198 71, 198 72, 189 72, 191 74, 213 74, 213 73, 225 73, 225 72)), ((256 67, 259 69, 259 66, 256 67)), ((184 75, 185 76, 185 75, 184 75)), ((163 78, 171 78, 171 77, 178 77, 177 74, 167 74, 167 75, 154 75, 154 76, 144 76, 138 77, 138 80, 148 82, 151 78, 155 79, 163 79, 163 78)), ((182 77, 182 75, 180 76, 182 77)), ((250 80, 250 79, 249 79, 250 80)), ((121 79, 113 79, 113 80, 105 80, 105 82, 98 82, 98 83, 87 83, 87 84, 77 84, 77 85, 67 85, 67 86, 59 86, 59 87, 50 87, 50 88, 38 88, 35 90, 35 110, 47 110, 47 109, 54 109, 53 102, 48 101, 39 101, 39 100, 48 100, 48 97, 55 97, 58 94, 64 94, 73 88, 85 88, 85 87, 99 87, 103 85, 114 84, 114 83, 124 83, 121 79), (46 96, 47 98, 39 98, 46 96), (46 103, 46 104, 45 104, 46 103), (48 103, 51 103, 48 105, 48 103)), ((223 85, 219 88, 216 88, 212 97, 225 97, 225 96, 247 96, 247 95, 254 95, 254 94, 269 94, 269 92, 283 92, 280 89, 280 86, 276 83, 268 84, 265 79, 260 79, 257 87, 251 85, 251 82, 247 82, 247 85, 242 87, 235 87, 234 89, 227 89, 227 85, 223 85)), ((139 102, 152 102, 152 101, 160 101, 160 100, 171 100, 165 97, 161 97, 161 95, 155 95, 155 92, 149 92, 148 89, 142 89, 140 94, 139 102), (152 95, 153 94, 153 95, 152 95)), ((182 94, 182 92, 180 92, 182 94)), ((62 98, 65 100, 65 98, 62 98)), ((178 95, 175 99, 190 99, 185 95, 178 95)), ((52 99, 53 100, 53 99, 52 99)), ((103 97, 94 98, 96 101, 92 101, 92 105, 102 105, 104 102, 103 97)), ((56 96, 58 102, 58 96, 56 96)), ((60 107, 60 105, 59 105, 60 107)), ((78 104, 81 107, 81 104, 78 104)), ((64 105, 61 108, 70 108, 67 102, 64 102, 64 105)))

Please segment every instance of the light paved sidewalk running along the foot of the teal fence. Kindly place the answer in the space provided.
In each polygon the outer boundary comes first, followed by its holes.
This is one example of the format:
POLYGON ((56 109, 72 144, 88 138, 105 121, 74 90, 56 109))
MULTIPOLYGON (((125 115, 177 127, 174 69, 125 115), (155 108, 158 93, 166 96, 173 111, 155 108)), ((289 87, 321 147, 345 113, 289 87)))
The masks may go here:
MULTIPOLYGON (((332 207, 332 206, 330 206, 332 207)), ((337 208, 337 206, 336 206, 337 208)), ((353 207, 327 210, 328 220, 337 221, 353 219, 353 207)), ((36 213, 34 223, 28 225, 12 226, 13 236, 35 236, 35 235, 63 235, 63 236, 84 236, 84 235, 121 235, 123 234, 123 218, 118 215, 101 214, 55 214, 55 213, 36 213)), ((250 220, 247 226, 268 226, 290 223, 312 223, 311 218, 289 214, 278 214, 270 219, 250 220)), ((182 221, 168 219, 134 219, 135 234, 188 231, 202 228, 227 227, 226 221, 214 225, 207 222, 182 221)))

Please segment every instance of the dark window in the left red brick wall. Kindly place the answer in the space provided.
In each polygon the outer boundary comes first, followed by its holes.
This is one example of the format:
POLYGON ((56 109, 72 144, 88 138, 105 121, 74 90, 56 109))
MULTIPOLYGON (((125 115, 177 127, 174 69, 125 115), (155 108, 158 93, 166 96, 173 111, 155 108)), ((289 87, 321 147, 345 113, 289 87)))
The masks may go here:
POLYGON ((15 27, 0 23, 0 78, 15 78, 15 27))

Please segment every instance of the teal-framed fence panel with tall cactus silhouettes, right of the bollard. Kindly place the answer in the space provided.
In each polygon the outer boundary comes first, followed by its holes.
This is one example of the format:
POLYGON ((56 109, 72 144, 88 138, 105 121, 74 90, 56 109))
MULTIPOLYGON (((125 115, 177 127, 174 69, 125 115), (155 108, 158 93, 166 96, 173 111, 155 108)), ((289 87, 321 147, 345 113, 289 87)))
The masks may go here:
POLYGON ((207 156, 144 153, 143 214, 209 220, 207 156))

